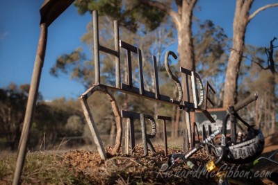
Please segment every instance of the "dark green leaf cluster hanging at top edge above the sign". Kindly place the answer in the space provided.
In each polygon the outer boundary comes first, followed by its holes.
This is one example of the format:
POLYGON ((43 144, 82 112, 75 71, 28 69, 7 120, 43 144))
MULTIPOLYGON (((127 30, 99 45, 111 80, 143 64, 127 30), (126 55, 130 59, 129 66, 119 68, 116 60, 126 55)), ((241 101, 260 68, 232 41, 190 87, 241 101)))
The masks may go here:
POLYGON ((145 31, 156 29, 165 17, 165 12, 147 6, 140 1, 124 0, 99 0, 88 1, 79 0, 74 2, 78 12, 83 15, 85 12, 98 10, 99 15, 106 15, 117 19, 121 26, 135 33, 141 25, 145 26, 145 31))

